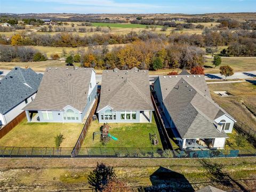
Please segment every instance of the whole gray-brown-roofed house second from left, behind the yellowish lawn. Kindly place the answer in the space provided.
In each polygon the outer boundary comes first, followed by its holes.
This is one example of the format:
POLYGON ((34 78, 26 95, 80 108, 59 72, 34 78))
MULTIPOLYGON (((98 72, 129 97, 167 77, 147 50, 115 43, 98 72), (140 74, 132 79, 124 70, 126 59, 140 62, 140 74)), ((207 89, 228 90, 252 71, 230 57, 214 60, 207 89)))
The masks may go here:
POLYGON ((98 85, 93 68, 46 68, 28 122, 82 123, 90 113, 98 85))

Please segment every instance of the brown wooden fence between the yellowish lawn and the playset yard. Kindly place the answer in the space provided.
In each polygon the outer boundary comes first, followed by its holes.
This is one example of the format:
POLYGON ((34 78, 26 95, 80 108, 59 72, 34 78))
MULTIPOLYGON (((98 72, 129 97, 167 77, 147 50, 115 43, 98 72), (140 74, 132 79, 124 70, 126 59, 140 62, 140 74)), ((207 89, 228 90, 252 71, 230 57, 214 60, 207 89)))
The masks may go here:
POLYGON ((88 118, 86 119, 86 122, 84 124, 84 127, 83 127, 83 130, 76 142, 76 145, 71 153, 71 157, 75 157, 78 153, 79 153, 79 150, 81 149, 82 145, 83 145, 83 142, 84 142, 84 138, 86 136, 86 133, 87 133, 87 130, 88 130, 88 127, 89 125, 91 124, 92 122, 92 116, 94 115, 96 109, 97 109, 97 106, 98 106, 98 101, 99 101, 99 94, 97 96, 97 98, 95 99, 95 102, 93 104, 93 107, 92 107, 92 110, 88 116, 88 118))

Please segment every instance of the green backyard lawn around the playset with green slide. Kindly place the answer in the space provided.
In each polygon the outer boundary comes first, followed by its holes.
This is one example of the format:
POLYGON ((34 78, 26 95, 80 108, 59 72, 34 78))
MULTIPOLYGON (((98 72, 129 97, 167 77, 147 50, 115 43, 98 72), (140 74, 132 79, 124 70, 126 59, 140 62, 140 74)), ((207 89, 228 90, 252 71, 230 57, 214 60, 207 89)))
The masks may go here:
MULTIPOLYGON (((100 135, 95 135, 92 141, 93 132, 99 132, 101 125, 98 121, 91 123, 82 147, 103 147, 100 135)), ((109 123, 109 126, 111 127, 109 133, 118 140, 110 139, 106 147, 163 148, 154 117, 152 123, 109 123), (149 133, 157 133, 159 140, 157 146, 151 145, 149 133)))

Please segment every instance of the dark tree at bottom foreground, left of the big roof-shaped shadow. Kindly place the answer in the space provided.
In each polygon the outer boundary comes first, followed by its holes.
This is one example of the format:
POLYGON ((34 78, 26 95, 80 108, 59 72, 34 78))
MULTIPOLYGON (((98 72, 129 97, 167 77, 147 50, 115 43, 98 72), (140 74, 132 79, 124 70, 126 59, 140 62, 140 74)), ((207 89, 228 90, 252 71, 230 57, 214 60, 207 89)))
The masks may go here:
POLYGON ((108 182, 114 178, 116 178, 116 174, 113 167, 108 167, 103 163, 97 163, 95 170, 90 172, 88 181, 92 187, 102 191, 108 182))

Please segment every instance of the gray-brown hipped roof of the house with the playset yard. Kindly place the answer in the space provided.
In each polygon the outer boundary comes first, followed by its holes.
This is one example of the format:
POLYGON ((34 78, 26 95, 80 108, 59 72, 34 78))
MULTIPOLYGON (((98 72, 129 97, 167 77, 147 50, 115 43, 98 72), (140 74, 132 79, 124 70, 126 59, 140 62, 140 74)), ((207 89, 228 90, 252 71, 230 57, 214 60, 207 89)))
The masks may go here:
POLYGON ((103 70, 97 111, 106 106, 114 110, 154 110, 148 70, 103 70))

